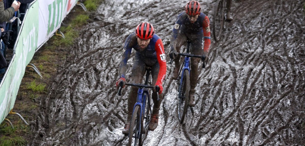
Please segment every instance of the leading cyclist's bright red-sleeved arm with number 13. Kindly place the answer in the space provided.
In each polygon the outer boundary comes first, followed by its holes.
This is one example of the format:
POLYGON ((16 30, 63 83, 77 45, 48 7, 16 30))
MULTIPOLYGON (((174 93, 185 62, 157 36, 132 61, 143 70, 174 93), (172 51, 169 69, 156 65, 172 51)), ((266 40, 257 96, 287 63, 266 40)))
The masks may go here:
POLYGON ((159 66, 160 66, 157 83, 162 84, 163 80, 165 78, 165 73, 166 73, 166 59, 165 59, 164 48, 163 48, 163 43, 162 43, 161 39, 158 39, 156 41, 155 50, 156 50, 156 55, 157 55, 157 59, 158 59, 159 66))

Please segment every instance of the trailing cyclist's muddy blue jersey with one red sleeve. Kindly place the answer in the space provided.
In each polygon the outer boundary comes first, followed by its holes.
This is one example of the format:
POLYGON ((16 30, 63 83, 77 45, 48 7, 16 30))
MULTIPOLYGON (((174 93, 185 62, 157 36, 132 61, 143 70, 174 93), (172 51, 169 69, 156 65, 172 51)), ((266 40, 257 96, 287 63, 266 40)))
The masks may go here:
MULTIPOLYGON (((202 35, 203 33, 203 39, 204 39, 203 50, 205 52, 209 51, 211 44, 210 20, 208 16, 206 16, 205 14, 200 13, 195 23, 190 22, 185 12, 179 14, 174 25, 174 29, 172 33, 172 41, 177 39, 179 33, 198 34, 198 35, 202 35)), ((171 49, 174 49, 172 45, 171 45, 171 49)))

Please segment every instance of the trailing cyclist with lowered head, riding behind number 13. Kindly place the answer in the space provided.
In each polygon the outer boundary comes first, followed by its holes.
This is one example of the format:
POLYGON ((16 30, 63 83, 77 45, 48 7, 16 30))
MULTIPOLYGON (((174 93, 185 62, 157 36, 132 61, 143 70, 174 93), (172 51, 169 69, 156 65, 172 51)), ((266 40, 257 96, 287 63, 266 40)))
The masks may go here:
MULTIPOLYGON (((200 12, 201 7, 199 2, 190 1, 185 5, 185 12, 178 15, 176 19, 172 38, 170 41, 170 58, 175 61, 175 68, 172 74, 172 79, 178 78, 179 72, 179 59, 178 52, 180 53, 180 48, 184 45, 187 39, 191 40, 190 53, 194 55, 206 55, 203 63, 207 63, 209 57, 207 53, 210 48, 210 20, 209 18, 200 12), (204 46, 203 46, 204 39, 204 46)), ((200 58, 191 58, 191 73, 190 73, 190 91, 189 91, 189 105, 195 106, 195 87, 197 84, 198 63, 200 58)))

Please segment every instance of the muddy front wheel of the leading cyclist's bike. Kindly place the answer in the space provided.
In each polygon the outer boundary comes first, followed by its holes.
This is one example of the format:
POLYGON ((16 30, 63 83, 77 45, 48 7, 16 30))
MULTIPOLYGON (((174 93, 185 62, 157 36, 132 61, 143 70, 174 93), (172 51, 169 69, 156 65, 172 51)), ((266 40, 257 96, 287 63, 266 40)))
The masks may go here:
POLYGON ((136 106, 134 113, 131 117, 131 123, 129 128, 129 135, 128 135, 128 146, 131 146, 132 139, 134 139, 133 146, 137 146, 139 138, 137 137, 138 132, 140 132, 139 127, 139 121, 140 121, 140 106, 136 106), (134 137, 133 137, 134 136, 134 137))

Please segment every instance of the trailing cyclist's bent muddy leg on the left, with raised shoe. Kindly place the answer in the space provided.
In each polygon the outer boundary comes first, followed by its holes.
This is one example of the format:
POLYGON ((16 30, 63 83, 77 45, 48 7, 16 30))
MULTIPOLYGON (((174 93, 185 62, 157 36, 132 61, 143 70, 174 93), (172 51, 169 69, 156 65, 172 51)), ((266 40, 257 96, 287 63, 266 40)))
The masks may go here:
MULTIPOLYGON (((186 43, 186 35, 185 33, 181 33, 179 32, 177 39, 174 41, 174 49, 176 49, 176 51, 178 53, 180 53, 180 48, 182 45, 184 45, 186 43)), ((179 72, 179 68, 180 68, 180 56, 177 56, 174 61, 175 61, 175 68, 172 74, 172 79, 177 79, 178 78, 178 72, 179 72)))

